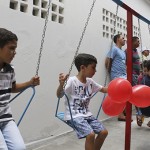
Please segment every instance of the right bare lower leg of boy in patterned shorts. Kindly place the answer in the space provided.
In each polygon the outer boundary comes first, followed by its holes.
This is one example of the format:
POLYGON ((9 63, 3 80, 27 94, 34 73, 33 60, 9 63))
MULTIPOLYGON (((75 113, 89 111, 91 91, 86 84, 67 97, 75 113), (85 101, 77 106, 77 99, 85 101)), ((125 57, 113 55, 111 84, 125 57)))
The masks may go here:
POLYGON ((95 145, 94 145, 95 149, 94 150, 100 150, 101 149, 107 135, 108 135, 107 130, 103 130, 97 135, 97 137, 95 139, 95 145))

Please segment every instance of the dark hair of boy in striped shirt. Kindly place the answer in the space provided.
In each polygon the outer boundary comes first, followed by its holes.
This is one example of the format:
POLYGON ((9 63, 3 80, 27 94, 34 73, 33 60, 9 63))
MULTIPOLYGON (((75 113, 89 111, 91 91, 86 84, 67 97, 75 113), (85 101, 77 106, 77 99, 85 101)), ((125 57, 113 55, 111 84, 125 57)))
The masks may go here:
POLYGON ((13 40, 18 41, 16 34, 7 29, 0 28, 0 48, 3 48, 7 43, 13 40))

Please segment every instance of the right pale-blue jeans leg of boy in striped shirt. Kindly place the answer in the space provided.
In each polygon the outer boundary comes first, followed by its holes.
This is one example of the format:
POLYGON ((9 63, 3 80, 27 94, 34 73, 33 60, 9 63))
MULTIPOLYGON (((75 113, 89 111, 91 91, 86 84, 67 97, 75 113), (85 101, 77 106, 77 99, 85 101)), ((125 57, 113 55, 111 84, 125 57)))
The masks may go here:
POLYGON ((3 123, 2 134, 9 150, 26 149, 19 129, 13 120, 3 123))

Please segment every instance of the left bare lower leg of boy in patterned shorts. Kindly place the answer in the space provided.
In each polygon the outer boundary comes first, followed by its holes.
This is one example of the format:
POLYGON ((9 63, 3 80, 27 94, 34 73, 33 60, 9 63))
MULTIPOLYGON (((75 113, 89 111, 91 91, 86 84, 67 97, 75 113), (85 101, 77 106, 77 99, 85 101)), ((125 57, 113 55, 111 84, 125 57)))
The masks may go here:
POLYGON ((92 132, 86 136, 85 150, 94 150, 95 133, 92 132))

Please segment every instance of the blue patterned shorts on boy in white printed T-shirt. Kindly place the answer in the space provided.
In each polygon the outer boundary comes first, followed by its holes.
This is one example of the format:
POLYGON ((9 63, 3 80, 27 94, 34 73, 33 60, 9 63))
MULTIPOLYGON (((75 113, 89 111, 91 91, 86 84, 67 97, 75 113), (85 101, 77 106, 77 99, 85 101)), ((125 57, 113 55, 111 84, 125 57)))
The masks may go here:
MULTIPOLYGON (((67 123, 71 124, 71 120, 68 120, 67 123)), ((73 119, 73 123, 79 139, 86 137, 92 132, 98 134, 101 131, 106 130, 103 124, 94 116, 77 117, 73 119)))

